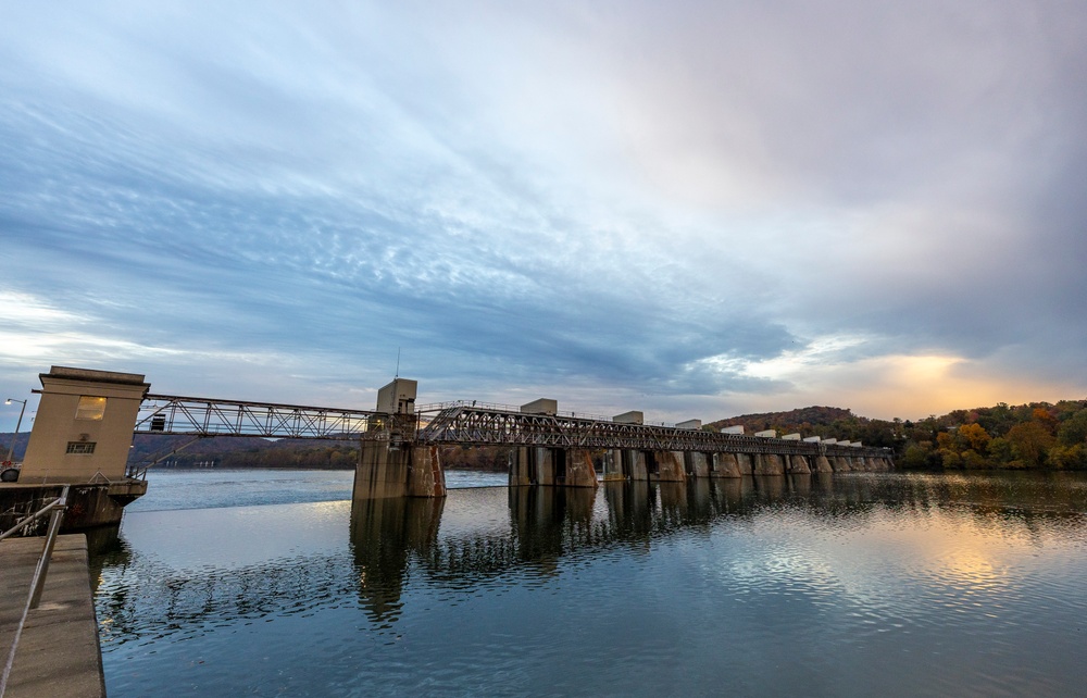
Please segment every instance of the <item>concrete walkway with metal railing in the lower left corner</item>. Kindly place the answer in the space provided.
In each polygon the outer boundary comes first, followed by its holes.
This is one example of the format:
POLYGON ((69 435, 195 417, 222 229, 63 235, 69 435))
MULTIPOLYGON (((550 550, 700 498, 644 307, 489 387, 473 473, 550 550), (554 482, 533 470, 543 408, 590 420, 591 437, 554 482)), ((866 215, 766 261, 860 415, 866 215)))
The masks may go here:
MULTIPOLYGON (((0 540, 0 672, 26 608, 45 538, 0 540)), ((38 608, 30 611, 3 698, 105 696, 87 538, 59 536, 38 608)))

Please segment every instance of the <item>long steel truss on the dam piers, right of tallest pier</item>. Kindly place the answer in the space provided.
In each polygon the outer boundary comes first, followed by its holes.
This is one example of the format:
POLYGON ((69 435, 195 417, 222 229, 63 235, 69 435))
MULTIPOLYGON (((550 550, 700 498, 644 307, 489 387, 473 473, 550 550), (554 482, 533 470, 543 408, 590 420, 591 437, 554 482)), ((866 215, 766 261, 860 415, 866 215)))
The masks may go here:
POLYGON ((833 447, 825 444, 736 434, 625 424, 562 415, 525 414, 505 410, 453 406, 439 411, 416 440, 421 444, 470 446, 539 446, 547 448, 707 453, 777 453, 797 456, 862 456, 885 458, 879 448, 833 447))

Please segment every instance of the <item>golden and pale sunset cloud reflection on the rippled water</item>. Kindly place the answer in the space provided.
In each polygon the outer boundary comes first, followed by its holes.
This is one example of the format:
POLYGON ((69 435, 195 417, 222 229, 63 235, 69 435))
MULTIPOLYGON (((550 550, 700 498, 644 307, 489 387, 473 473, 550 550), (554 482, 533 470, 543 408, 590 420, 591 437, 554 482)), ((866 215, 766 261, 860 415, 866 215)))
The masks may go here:
POLYGON ((1023 571, 1047 566, 1039 550, 1055 552, 1048 564, 1060 568, 1066 560, 1061 551, 1076 547, 1062 535, 1066 519, 1028 527, 1014 518, 978 518, 969 508, 877 509, 829 537, 824 513, 799 507, 755 513, 739 529, 732 523, 716 525, 726 544, 696 549, 722 594, 749 602, 802 599, 871 632, 940 625, 932 607, 1029 622, 1039 589, 1023 571))

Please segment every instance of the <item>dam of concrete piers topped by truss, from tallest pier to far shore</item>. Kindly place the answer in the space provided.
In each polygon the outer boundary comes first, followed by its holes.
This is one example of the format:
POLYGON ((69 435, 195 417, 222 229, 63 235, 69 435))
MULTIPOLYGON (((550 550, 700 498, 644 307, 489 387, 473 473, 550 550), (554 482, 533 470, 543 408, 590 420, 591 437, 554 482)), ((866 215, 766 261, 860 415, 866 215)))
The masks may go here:
MULTIPOLYGON (((611 420, 560 415, 554 400, 518 408, 455 402, 415 412, 415 383, 382 390, 387 428, 363 437, 354 499, 441 497, 440 446, 512 447, 511 487, 597 487, 600 481, 685 482, 703 477, 886 471, 889 449, 835 439, 753 436, 697 426, 646 425, 640 412, 611 420), (396 394, 398 397, 388 397, 396 394), (599 475, 598 475, 599 473, 599 475)), ((699 425, 697 421, 694 424, 699 425)))

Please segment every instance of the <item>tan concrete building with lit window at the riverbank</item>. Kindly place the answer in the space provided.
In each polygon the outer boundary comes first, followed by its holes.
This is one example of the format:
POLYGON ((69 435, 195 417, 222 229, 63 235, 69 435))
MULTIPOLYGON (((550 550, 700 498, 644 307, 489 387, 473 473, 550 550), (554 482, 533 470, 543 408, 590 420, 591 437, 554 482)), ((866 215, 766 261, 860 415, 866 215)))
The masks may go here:
POLYGON ((20 483, 116 482, 125 476, 143 376, 53 366, 39 374, 41 400, 20 483))

